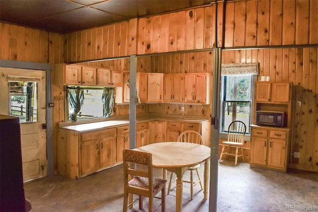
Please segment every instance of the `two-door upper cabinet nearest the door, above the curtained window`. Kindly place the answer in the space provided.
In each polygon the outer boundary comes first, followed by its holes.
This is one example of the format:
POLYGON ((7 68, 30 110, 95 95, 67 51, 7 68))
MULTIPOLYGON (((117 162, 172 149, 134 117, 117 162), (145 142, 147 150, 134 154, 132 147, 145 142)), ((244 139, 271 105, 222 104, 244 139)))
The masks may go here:
POLYGON ((96 85, 96 68, 56 64, 53 79, 56 85, 96 85))

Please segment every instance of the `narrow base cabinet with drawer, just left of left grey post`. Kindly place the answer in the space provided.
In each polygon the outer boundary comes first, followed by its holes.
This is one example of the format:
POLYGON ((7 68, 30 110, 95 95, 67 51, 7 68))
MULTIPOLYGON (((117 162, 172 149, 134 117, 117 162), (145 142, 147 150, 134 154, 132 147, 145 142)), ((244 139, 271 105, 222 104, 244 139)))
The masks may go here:
POLYGON ((129 125, 117 127, 116 162, 123 162, 123 149, 130 148, 129 125))

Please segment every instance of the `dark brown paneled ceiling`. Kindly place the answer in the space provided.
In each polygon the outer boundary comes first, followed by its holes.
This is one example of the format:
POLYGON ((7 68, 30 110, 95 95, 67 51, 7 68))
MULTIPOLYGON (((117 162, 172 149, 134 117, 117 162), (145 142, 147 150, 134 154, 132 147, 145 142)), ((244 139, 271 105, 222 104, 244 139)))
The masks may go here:
POLYGON ((215 0, 0 0, 0 21, 69 33, 215 0))

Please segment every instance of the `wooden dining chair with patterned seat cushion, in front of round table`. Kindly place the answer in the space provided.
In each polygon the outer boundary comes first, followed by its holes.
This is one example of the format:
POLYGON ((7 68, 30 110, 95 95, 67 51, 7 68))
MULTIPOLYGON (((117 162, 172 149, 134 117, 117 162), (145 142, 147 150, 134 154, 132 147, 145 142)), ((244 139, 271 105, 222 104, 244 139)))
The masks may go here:
POLYGON ((149 198, 149 211, 153 211, 154 197, 161 191, 161 211, 165 211, 165 183, 164 179, 153 177, 152 154, 131 149, 123 149, 124 161, 124 205, 123 212, 127 212, 128 194, 139 195, 139 209, 143 209, 142 197, 149 198), (144 166, 143 166, 144 165, 144 166), (149 186, 152 179, 152 186, 149 186))

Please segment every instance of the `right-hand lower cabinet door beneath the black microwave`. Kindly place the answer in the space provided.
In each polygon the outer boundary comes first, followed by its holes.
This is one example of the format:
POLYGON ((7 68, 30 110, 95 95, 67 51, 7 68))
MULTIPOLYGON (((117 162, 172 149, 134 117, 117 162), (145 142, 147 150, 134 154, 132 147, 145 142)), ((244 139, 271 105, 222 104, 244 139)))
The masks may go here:
POLYGON ((267 165, 277 168, 284 168, 285 144, 283 139, 269 139, 267 165))

